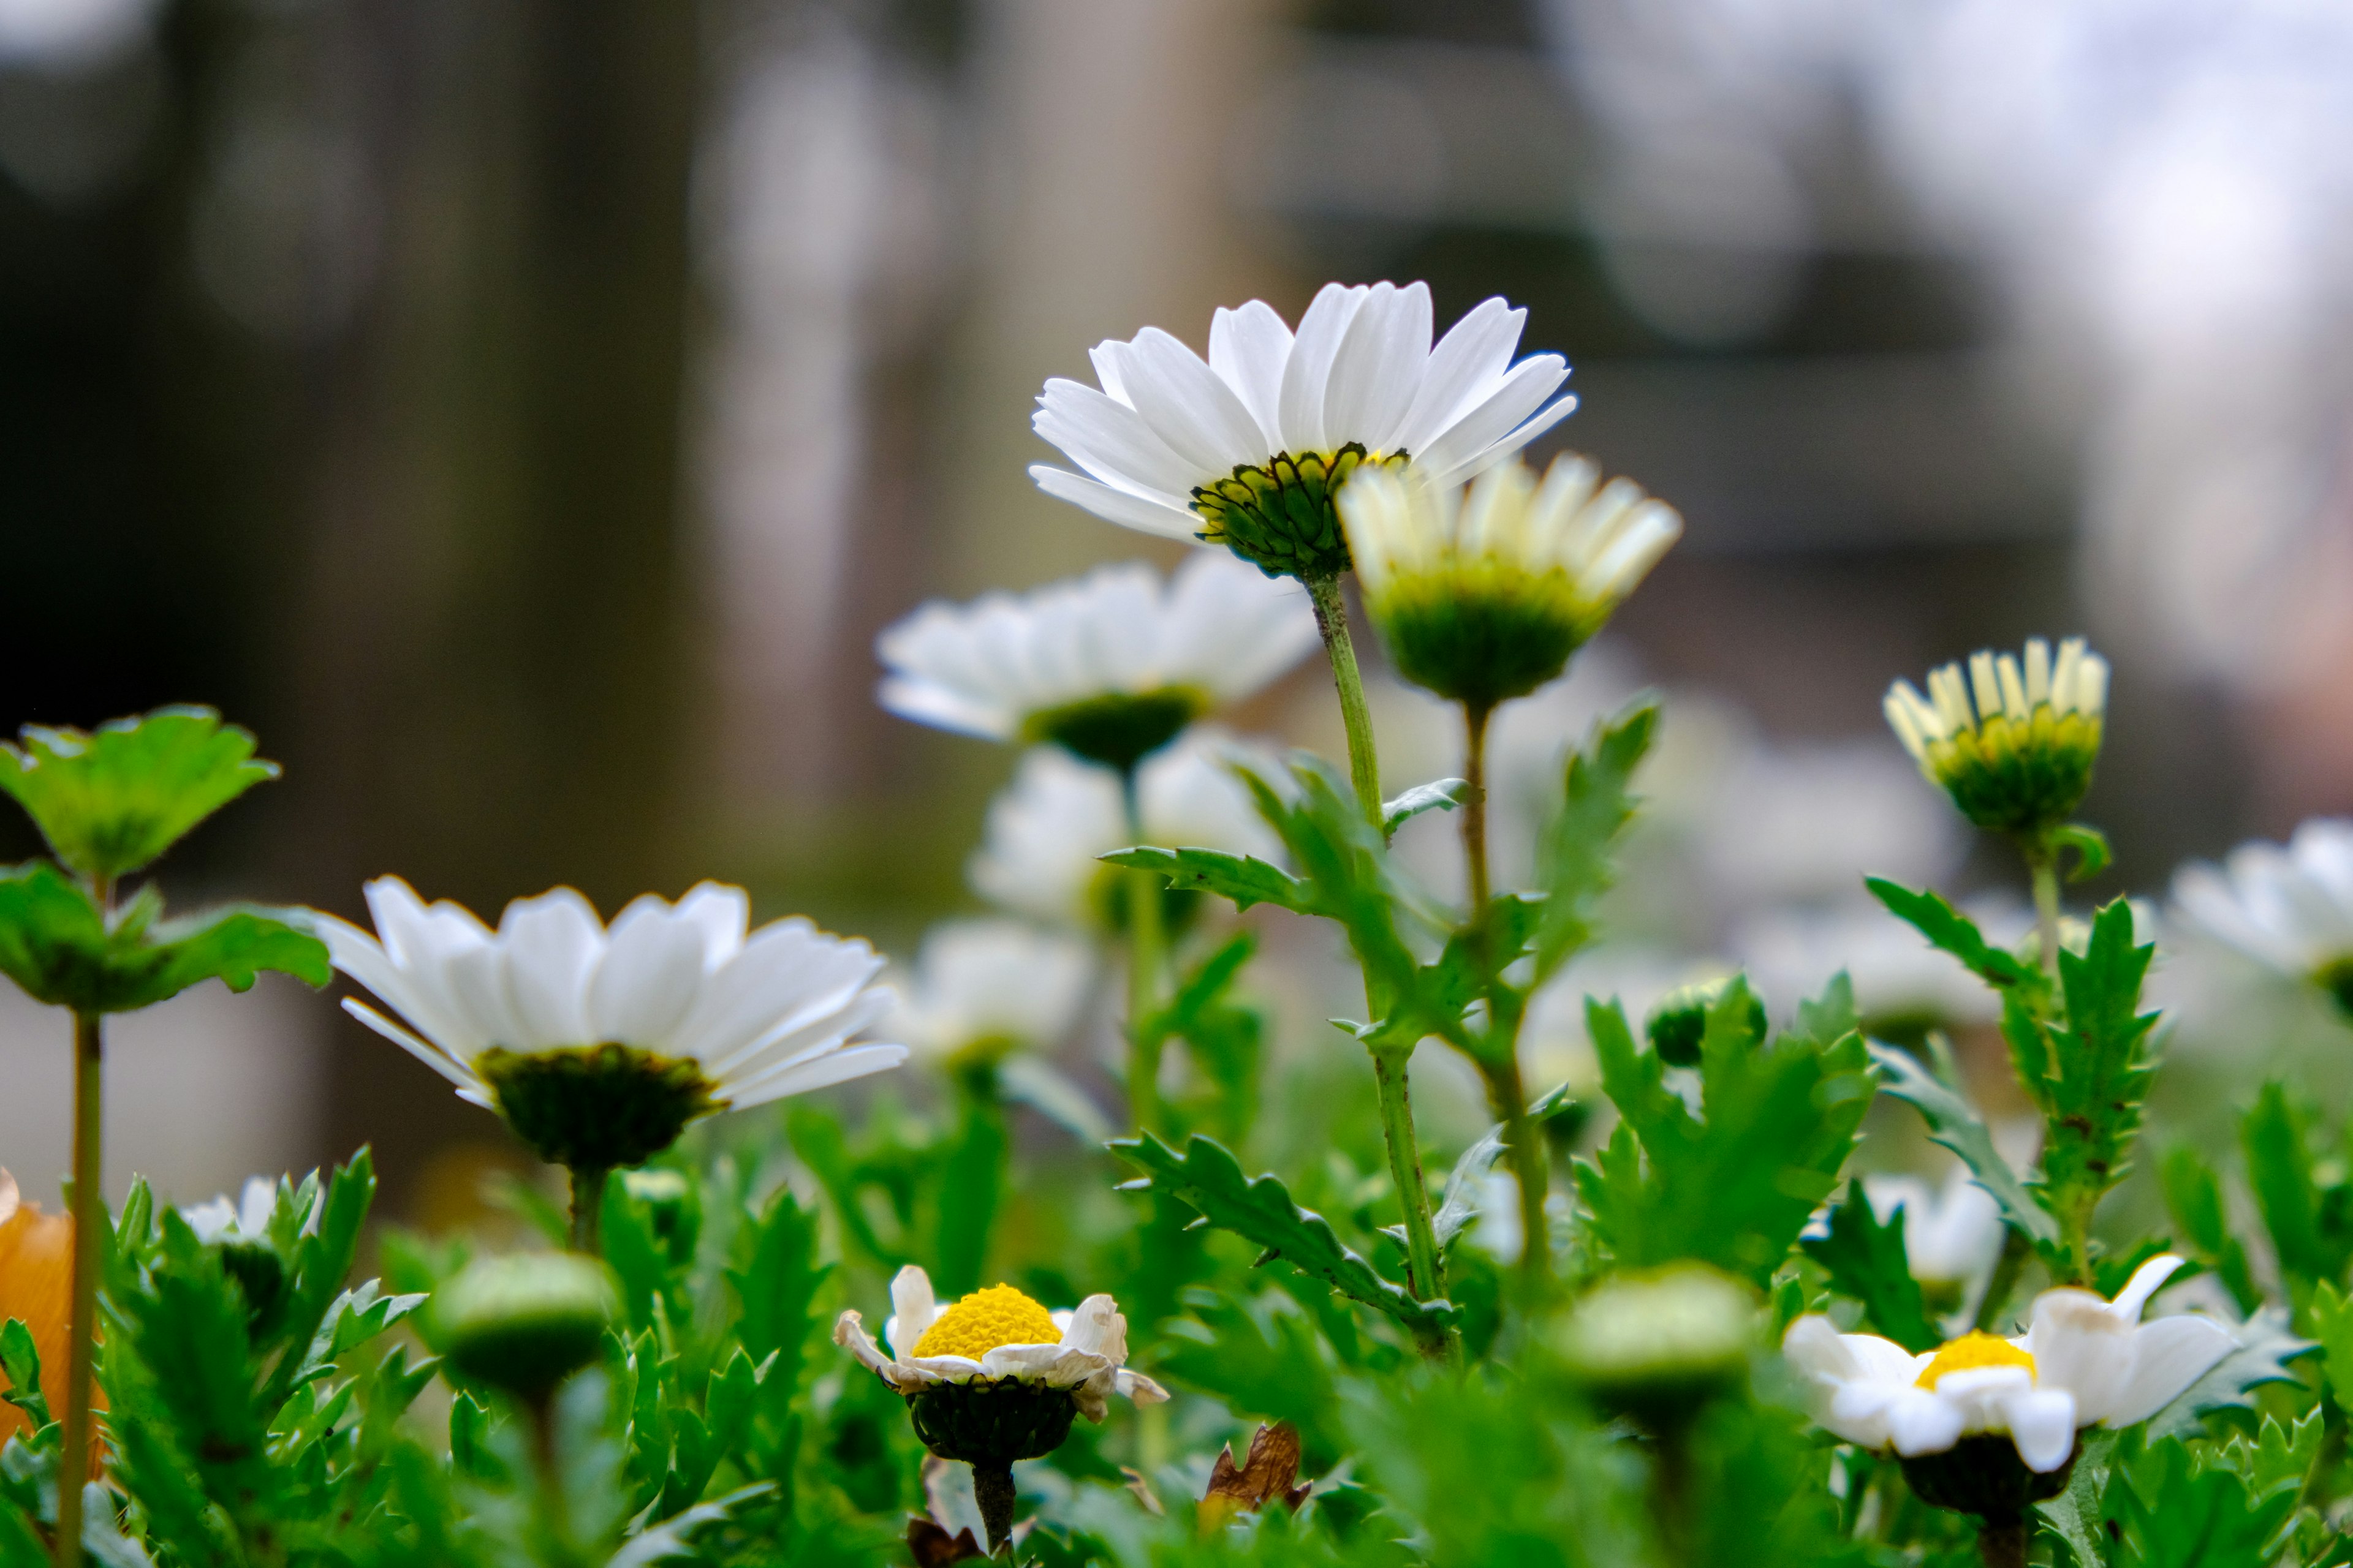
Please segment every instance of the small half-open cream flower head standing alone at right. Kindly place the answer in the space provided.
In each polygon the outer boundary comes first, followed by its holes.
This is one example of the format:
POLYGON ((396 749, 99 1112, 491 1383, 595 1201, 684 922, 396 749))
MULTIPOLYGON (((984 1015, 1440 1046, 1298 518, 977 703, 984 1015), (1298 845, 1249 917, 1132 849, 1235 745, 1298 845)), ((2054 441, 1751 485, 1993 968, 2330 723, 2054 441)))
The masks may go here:
POLYGON ((1887 724, 1929 783, 1979 827, 2035 835, 2082 804, 2108 712, 2108 661, 2082 637, 2052 658, 2040 637, 2026 661, 1991 651, 1932 670, 1927 696, 1899 679, 1887 724), (1974 705, 1972 705, 1974 698, 1974 705))

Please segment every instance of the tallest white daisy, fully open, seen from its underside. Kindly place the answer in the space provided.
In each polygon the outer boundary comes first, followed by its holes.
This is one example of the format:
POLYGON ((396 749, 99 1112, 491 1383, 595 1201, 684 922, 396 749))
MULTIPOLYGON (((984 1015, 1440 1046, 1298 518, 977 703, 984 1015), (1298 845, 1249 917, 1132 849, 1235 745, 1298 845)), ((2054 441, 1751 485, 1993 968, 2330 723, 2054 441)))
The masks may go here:
POLYGON ((1031 421, 1085 473, 1031 468, 1099 517, 1224 543, 1268 574, 1332 578, 1348 543, 1332 494, 1360 463, 1471 480, 1537 440, 1560 355, 1513 364, 1527 313, 1489 299, 1431 346, 1428 284, 1325 284, 1294 336, 1264 301, 1209 320, 1209 360, 1158 327, 1094 348, 1101 388, 1047 381, 1031 421))

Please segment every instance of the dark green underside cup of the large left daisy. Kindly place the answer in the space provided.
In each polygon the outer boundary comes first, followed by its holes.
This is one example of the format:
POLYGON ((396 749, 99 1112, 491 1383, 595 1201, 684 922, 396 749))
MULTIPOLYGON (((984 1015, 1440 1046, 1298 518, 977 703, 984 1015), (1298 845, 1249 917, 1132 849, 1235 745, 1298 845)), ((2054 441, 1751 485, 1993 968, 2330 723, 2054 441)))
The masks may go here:
POLYGON ((638 1046, 562 1046, 473 1058, 499 1114, 548 1164, 574 1171, 638 1166, 678 1143, 696 1117, 720 1110, 701 1063, 638 1046))

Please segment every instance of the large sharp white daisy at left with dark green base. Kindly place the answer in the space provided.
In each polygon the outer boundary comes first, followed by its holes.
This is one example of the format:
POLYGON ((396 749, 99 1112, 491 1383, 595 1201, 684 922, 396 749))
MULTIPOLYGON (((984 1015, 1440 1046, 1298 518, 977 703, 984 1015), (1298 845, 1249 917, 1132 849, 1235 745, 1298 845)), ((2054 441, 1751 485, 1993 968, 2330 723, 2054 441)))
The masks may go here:
POLYGON ((518 898, 496 931, 398 877, 369 882, 367 907, 374 933, 334 917, 320 933, 400 1020, 358 999, 344 1009, 555 1164, 633 1166, 706 1112, 906 1060, 906 1046, 852 1044, 892 1006, 875 950, 802 917, 751 931, 736 886, 704 882, 675 905, 647 893, 612 929, 572 889, 518 898), (544 1093, 551 1079, 569 1091, 544 1093), (612 1119, 640 1128, 631 1143, 652 1147, 605 1147, 605 1128, 562 1110, 591 1079, 612 1119))

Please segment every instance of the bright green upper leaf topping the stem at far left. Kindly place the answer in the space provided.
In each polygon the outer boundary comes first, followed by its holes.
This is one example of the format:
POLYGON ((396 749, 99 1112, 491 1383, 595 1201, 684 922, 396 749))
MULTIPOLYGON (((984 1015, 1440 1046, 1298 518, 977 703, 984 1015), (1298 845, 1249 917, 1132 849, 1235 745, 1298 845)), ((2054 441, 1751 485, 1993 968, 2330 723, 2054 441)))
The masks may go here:
POLYGON ((26 724, 0 743, 0 790, 40 825, 52 853, 85 877, 153 863, 191 827, 278 778, 252 733, 212 708, 158 708, 96 731, 26 724))

